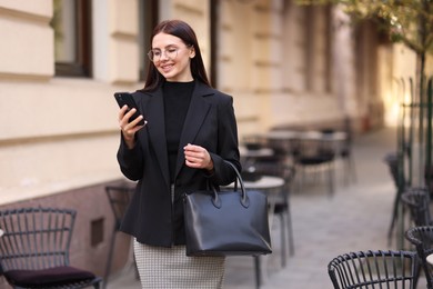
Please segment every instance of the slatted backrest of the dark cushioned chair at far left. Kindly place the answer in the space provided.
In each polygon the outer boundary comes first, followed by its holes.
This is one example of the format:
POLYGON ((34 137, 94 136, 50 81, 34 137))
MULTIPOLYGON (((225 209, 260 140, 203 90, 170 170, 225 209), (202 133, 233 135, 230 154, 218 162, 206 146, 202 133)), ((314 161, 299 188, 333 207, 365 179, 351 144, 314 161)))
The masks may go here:
POLYGON ((69 247, 75 211, 56 208, 20 208, 0 211, 0 266, 47 269, 69 265, 69 247))

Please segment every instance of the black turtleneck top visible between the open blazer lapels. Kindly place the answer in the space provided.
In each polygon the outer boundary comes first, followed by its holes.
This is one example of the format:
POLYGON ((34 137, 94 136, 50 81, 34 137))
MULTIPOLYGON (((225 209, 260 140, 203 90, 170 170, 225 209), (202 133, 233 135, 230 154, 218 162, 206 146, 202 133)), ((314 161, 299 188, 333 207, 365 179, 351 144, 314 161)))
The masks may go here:
POLYGON ((169 82, 162 87, 164 98, 165 138, 169 155, 170 181, 174 181, 175 162, 183 123, 190 107, 194 81, 169 82))

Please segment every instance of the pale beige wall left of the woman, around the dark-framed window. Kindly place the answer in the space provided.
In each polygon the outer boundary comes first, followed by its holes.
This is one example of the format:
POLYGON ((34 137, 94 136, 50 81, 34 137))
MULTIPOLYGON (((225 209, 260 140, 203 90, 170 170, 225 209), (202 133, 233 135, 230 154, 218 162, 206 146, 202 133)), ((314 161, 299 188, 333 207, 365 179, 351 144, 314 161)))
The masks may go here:
POLYGON ((138 2, 93 3, 95 77, 80 79, 53 76, 52 1, 0 1, 0 205, 121 178, 112 93, 140 86, 138 2))

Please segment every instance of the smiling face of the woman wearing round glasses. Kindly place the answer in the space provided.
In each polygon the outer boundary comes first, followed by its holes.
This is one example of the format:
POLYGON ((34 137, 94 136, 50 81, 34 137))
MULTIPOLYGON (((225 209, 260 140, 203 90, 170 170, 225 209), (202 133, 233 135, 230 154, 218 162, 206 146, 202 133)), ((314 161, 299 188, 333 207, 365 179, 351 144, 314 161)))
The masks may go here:
POLYGON ((175 36, 158 33, 152 40, 153 64, 167 81, 192 81, 190 62, 195 56, 193 47, 175 36))

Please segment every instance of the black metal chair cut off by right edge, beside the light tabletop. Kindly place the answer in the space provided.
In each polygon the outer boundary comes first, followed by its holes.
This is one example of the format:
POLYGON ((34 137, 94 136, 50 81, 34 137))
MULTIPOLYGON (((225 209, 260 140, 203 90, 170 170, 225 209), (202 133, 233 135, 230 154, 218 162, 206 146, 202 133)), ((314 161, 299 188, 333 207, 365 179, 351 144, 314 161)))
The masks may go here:
MULTIPOLYGON (((433 227, 413 227, 406 230, 405 238, 415 246, 420 259, 420 267, 423 267, 427 288, 433 289, 433 267, 426 261, 429 255, 433 253, 433 227)), ((419 276, 416 277, 416 282, 419 276)))

